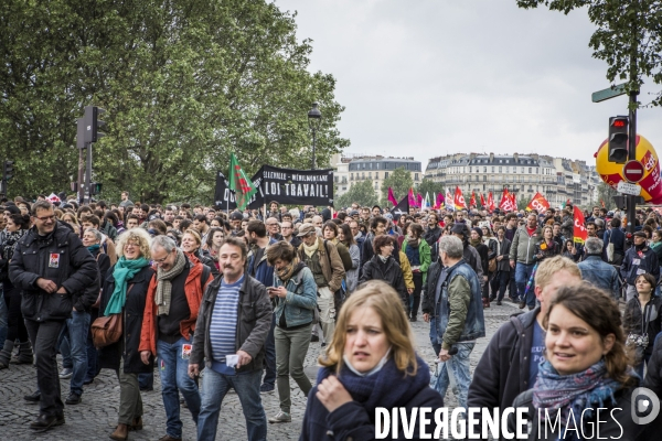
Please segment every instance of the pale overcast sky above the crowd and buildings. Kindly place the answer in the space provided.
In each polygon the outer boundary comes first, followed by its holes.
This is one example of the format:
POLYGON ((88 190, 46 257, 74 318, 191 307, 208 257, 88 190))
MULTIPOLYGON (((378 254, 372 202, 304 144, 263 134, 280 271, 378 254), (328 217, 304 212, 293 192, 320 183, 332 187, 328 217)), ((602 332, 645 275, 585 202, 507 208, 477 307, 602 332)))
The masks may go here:
MULTIPOLYGON (((594 60, 586 10, 569 15, 515 0, 275 0, 312 39, 310 69, 332 74, 345 106, 348 153, 429 158, 453 152, 581 159, 607 138, 627 97, 600 104, 607 65, 594 60)), ((641 100, 654 85, 644 85, 641 100)), ((323 108, 321 109, 323 112, 323 108)), ((662 109, 639 133, 662 149, 662 109)), ((661 150, 662 152, 662 150, 661 150)))

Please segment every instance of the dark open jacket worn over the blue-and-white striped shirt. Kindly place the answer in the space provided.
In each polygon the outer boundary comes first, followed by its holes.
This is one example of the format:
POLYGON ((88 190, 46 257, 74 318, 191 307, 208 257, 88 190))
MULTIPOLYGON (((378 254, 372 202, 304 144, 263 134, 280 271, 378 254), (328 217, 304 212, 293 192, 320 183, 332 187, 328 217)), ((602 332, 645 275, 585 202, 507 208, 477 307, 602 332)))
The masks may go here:
MULTIPOLYGON (((210 282, 202 295, 193 334, 191 364, 201 364, 204 358, 207 366, 211 366, 213 361, 210 326, 222 279, 223 276, 210 282)), ((271 327, 271 301, 265 286, 247 273, 244 273, 244 283, 239 290, 237 314, 235 353, 241 349, 253 358, 250 363, 239 367, 237 373, 261 369, 266 354, 265 342, 271 327)))

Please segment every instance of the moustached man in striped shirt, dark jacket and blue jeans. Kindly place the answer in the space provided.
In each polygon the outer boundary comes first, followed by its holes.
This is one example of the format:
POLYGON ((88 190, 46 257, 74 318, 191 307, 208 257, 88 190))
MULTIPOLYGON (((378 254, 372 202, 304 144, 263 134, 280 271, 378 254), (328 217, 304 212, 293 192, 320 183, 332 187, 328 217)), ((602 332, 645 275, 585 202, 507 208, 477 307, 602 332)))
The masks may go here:
POLYGON ((261 405, 265 342, 271 326, 267 289, 244 272, 247 249, 241 238, 228 237, 218 250, 223 276, 211 282, 197 315, 189 375, 202 378, 197 439, 214 440, 221 405, 232 387, 246 417, 247 439, 266 440, 267 418, 261 405))

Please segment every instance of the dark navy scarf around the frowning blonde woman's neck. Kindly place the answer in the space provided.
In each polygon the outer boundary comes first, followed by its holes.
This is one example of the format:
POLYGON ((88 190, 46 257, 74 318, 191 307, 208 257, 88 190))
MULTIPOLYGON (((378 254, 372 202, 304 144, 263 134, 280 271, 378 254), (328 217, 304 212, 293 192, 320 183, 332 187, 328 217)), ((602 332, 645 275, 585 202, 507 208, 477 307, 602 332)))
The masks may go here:
MULTIPOLYGON (((393 357, 378 372, 361 377, 354 374, 349 367, 343 366, 338 375, 338 379, 352 396, 352 399, 359 402, 371 418, 375 415, 376 407, 387 409, 402 407, 409 402, 420 390, 429 387, 430 369, 417 355, 418 370, 415 376, 406 376, 395 366, 393 357)), ((317 384, 324 378, 335 375, 335 369, 323 367, 318 374, 317 384)))

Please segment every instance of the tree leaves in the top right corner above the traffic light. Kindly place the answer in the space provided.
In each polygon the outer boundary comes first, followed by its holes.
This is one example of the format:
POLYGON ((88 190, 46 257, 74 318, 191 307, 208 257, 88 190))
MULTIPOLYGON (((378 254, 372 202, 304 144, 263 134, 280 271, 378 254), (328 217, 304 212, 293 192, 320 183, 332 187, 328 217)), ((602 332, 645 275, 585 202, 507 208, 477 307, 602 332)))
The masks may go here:
MULTIPOLYGON (((598 29, 591 35, 592 56, 608 64, 607 79, 627 79, 626 90, 640 90, 642 77, 662 84, 662 4, 659 0, 516 0, 524 9, 545 6, 568 14, 588 7, 588 18, 598 29)), ((658 94, 651 103, 662 105, 658 94)), ((639 107, 640 103, 634 104, 639 107)))

